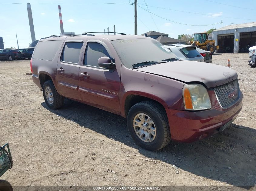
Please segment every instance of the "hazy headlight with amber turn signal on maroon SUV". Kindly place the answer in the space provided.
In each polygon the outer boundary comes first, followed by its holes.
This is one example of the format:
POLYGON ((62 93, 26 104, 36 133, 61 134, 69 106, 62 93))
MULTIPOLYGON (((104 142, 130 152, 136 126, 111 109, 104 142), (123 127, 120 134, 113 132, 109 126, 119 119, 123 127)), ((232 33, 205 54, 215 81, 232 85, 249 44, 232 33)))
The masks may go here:
POLYGON ((209 94, 201 84, 185 84, 183 101, 186 110, 205 110, 211 108, 209 94))

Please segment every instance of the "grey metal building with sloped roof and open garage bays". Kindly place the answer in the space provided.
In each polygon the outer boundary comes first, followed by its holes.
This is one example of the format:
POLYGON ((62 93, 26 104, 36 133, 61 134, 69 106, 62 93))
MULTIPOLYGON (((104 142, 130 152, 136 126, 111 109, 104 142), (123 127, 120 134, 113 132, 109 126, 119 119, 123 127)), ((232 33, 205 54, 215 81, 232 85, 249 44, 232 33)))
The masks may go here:
POLYGON ((243 53, 256 45, 256 22, 228 25, 212 31, 212 39, 219 45, 217 53, 243 53))

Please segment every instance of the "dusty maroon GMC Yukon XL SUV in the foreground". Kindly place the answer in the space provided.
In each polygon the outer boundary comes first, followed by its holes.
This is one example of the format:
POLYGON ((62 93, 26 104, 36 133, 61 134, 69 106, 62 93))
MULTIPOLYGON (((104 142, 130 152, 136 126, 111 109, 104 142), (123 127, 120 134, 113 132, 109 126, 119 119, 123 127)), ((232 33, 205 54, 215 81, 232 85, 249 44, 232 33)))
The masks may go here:
POLYGON ((155 151, 223 131, 242 108, 234 70, 175 58, 149 37, 84 33, 40 40, 30 67, 50 109, 67 97, 121 115, 135 143, 155 151))

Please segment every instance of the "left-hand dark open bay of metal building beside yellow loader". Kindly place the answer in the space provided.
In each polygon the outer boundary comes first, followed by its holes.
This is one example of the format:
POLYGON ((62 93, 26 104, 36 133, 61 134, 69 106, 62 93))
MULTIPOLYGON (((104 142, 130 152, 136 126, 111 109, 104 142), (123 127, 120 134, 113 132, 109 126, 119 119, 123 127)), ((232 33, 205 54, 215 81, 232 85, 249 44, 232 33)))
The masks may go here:
POLYGON ((218 35, 218 53, 233 53, 234 52, 234 34, 218 35))

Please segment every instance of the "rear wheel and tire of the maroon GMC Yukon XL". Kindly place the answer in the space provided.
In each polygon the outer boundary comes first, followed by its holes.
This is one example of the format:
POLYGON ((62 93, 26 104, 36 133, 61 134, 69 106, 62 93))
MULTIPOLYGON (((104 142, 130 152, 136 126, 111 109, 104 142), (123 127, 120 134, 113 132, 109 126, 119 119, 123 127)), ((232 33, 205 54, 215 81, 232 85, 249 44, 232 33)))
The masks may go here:
POLYGON ((57 92, 52 80, 45 81, 43 96, 50 109, 58 109, 64 105, 64 97, 57 92))

